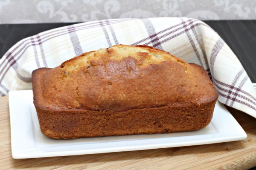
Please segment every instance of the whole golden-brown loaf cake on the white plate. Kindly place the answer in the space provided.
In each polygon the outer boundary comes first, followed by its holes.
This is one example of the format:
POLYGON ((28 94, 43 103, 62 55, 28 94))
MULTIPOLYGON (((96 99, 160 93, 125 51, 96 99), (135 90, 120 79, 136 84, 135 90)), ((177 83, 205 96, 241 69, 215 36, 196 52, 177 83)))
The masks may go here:
POLYGON ((218 98, 203 67, 143 45, 36 69, 32 84, 41 132, 55 139, 199 130, 218 98))

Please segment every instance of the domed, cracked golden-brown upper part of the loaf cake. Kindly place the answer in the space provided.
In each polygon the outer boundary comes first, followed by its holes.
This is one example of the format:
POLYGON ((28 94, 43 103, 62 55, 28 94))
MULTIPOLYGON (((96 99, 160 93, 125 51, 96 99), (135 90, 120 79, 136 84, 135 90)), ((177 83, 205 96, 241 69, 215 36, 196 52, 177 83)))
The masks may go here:
POLYGON ((150 46, 116 45, 32 72, 41 109, 124 111, 216 100, 203 67, 150 46))

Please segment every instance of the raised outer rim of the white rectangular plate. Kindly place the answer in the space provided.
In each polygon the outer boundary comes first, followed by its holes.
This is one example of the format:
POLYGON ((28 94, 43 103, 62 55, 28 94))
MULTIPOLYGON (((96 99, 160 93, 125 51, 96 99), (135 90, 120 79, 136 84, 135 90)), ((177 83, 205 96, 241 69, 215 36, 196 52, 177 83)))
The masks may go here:
MULTIPOLYGON (((238 141, 238 140, 244 140, 247 138, 247 134, 245 133, 245 131, 243 130, 243 128, 241 127, 241 125, 236 121, 236 119, 233 117, 233 115, 230 114, 230 116, 234 119, 235 123, 237 124, 237 128, 240 129, 239 135, 233 135, 233 137, 222 137, 222 138, 217 138, 217 139, 208 139, 208 140, 204 140, 204 141, 190 141, 190 142, 186 142, 186 143, 181 143, 181 144, 173 144, 173 143, 169 143, 169 144, 155 144, 155 145, 145 145, 145 146, 133 146, 133 147, 113 147, 113 148, 105 148, 105 150, 101 149, 94 149, 94 150, 86 150, 86 149, 82 149, 82 150, 69 150, 69 151, 58 151, 58 152, 40 152, 38 151, 38 153, 36 152, 31 152, 31 153, 19 153, 15 147, 14 147, 14 143, 15 141, 15 136, 14 136, 14 124, 13 124, 13 111, 12 111, 12 97, 14 97, 14 95, 17 95, 17 93, 26 93, 26 92, 32 92, 32 90, 15 90, 15 91, 10 91, 9 92, 9 114, 10 114, 10 128, 11 128, 11 150, 12 150, 12 157, 15 159, 18 158, 39 158, 39 157, 52 157, 52 156, 72 156, 72 155, 84 155, 84 154, 96 154, 96 153, 111 153, 111 152, 123 152, 123 151, 132 151, 132 150, 148 150, 148 149, 157 149, 157 148, 167 148, 167 147, 181 147, 181 146, 193 146, 193 145, 201 145, 201 144, 214 144, 214 143, 222 143, 222 142, 228 142, 228 141, 238 141), (22 91, 22 92, 21 92, 22 91)), ((29 101, 26 101, 29 105, 29 101)), ((219 102, 219 101, 217 101, 219 102)), ((221 104, 219 102, 219 104, 221 104)), ((221 104, 223 105, 223 104, 221 104)), ((224 107, 225 108, 225 107, 224 107)), ((227 108, 225 108, 227 110, 227 108)), ((227 112, 229 112, 227 110, 227 112)), ((230 112, 229 112, 230 113, 230 112)), ((210 135, 210 134, 204 134, 204 135, 210 135)), ((193 136, 193 135, 192 135, 193 136)), ((33 137, 35 137, 35 135, 33 134, 33 137)), ((97 137, 100 138, 100 137, 97 137)), ((172 137, 173 138, 173 137, 172 137)), ((148 140, 148 139, 144 139, 144 140, 148 140)), ((35 141, 34 141, 35 142, 35 141)), ((120 141, 115 141, 115 142, 120 142, 120 141)), ((82 145, 82 144, 81 144, 82 145)), ((36 149, 37 147, 33 147, 34 149, 36 149)), ((35 150, 34 150, 35 151, 35 150)))

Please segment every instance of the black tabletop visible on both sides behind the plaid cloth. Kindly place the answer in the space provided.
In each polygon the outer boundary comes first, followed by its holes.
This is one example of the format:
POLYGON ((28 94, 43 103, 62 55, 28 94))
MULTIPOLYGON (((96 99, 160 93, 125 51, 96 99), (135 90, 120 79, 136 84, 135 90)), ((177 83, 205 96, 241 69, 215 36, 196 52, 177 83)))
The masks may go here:
MULTIPOLYGON (((224 39, 256 82, 256 20, 204 21, 224 39)), ((0 25, 0 58, 19 40, 49 29, 74 23, 38 23, 0 25)))

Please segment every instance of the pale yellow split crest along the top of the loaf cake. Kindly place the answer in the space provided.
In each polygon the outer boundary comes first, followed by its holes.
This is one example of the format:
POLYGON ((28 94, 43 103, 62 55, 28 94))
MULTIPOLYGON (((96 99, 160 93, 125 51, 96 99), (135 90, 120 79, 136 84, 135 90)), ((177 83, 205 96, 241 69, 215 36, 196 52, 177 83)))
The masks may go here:
POLYGON ((86 52, 75 58, 71 58, 61 64, 61 68, 65 68, 72 72, 81 67, 90 67, 101 65, 110 60, 122 61, 124 58, 133 57, 140 66, 149 66, 151 64, 161 63, 162 61, 172 60, 180 63, 186 71, 186 63, 168 52, 155 49, 151 46, 137 45, 116 45, 107 49, 99 49, 97 51, 86 52))

